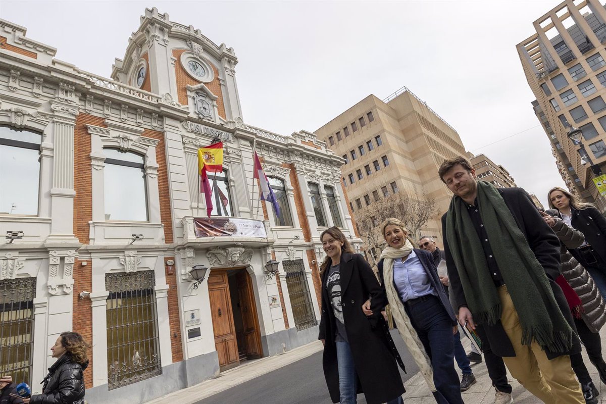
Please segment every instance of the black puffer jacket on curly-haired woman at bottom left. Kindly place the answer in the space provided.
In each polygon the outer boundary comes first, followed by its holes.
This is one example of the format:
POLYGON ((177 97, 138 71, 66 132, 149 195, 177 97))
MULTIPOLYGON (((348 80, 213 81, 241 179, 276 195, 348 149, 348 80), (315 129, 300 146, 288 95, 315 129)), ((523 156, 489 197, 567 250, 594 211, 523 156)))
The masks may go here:
POLYGON ((32 396, 30 404, 81 404, 84 403, 84 369, 88 363, 73 362, 66 353, 48 368, 42 394, 32 396))

